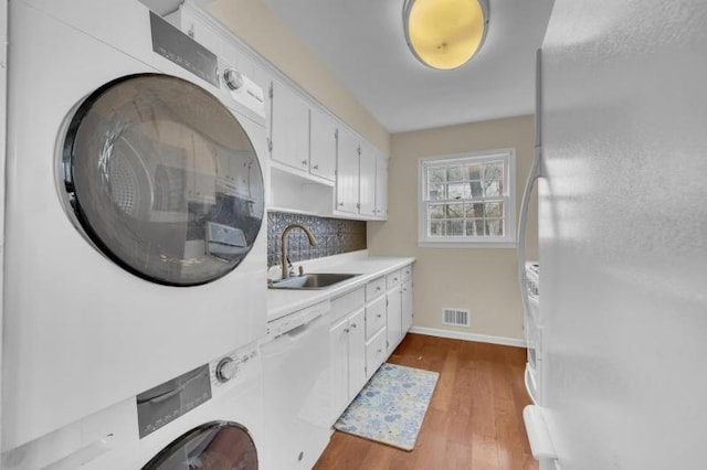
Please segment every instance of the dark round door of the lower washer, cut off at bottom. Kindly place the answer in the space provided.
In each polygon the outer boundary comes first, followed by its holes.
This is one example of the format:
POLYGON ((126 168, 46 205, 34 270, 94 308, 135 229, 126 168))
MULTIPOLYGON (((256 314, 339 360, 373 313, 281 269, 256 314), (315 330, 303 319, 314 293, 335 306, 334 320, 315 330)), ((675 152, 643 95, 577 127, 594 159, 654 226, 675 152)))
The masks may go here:
POLYGON ((257 470, 257 450, 236 423, 209 423, 167 446, 143 470, 257 470))

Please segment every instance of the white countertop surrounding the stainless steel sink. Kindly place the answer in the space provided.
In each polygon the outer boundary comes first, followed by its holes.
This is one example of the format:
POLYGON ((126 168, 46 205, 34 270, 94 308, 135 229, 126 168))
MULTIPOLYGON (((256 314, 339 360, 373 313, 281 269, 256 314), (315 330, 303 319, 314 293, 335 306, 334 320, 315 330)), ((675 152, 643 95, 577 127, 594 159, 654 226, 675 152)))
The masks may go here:
POLYGON ((358 274, 351 279, 318 290, 267 289, 267 321, 277 320, 297 310, 327 299, 334 299, 366 282, 414 263, 415 258, 368 256, 368 250, 328 256, 295 263, 307 273, 358 274))

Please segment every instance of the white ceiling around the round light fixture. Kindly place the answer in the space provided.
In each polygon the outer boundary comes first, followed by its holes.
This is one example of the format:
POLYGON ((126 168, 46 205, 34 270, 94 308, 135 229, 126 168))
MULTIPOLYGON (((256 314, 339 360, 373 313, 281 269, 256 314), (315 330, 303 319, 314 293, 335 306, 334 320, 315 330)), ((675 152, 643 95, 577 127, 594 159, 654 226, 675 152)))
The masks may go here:
POLYGON ((403 0, 263 0, 390 132, 531 114, 553 0, 489 0, 482 50, 435 71, 408 50, 403 0))

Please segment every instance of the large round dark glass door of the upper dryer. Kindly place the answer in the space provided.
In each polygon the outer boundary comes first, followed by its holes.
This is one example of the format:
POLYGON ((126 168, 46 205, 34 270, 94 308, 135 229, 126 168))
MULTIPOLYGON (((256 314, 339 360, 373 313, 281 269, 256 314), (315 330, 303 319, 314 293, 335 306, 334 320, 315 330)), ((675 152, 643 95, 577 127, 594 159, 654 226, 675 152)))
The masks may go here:
POLYGON ((63 153, 73 214, 128 271, 196 286, 235 268, 264 213, 263 174, 236 117, 190 82, 133 75, 92 94, 63 153))

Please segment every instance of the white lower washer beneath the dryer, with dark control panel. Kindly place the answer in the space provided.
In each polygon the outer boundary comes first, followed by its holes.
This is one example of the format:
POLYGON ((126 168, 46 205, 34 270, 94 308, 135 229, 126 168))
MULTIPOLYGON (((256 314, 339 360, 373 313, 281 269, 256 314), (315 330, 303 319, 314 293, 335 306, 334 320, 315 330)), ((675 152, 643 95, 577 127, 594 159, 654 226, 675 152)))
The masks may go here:
POLYGON ((263 375, 256 343, 2 455, 3 470, 256 470, 263 375))

